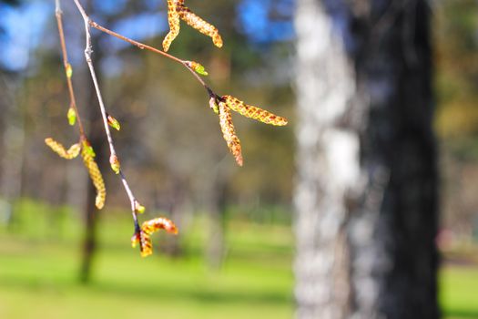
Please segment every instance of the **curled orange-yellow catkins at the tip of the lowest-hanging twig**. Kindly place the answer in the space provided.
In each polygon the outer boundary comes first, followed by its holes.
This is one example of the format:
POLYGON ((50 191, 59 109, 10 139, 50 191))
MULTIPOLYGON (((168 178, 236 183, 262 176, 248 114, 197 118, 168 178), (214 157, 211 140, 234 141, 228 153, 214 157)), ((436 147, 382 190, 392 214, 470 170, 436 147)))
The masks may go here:
POLYGON ((158 232, 159 230, 165 230, 166 232, 174 234, 178 233, 178 228, 174 222, 168 220, 167 218, 159 217, 154 220, 143 222, 139 236, 135 234, 131 239, 131 244, 133 247, 137 245, 137 242, 141 242, 141 257, 147 257, 153 253, 151 234, 153 232, 158 232))

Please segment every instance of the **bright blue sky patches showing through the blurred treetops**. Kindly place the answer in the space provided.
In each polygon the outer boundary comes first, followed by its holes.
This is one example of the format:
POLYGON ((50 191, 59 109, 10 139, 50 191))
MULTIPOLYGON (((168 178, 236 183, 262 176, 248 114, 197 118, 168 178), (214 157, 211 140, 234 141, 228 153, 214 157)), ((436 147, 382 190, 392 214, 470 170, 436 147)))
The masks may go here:
MULTIPOLYGON (((158 10, 164 8, 163 2, 143 1, 147 12, 128 16, 109 27, 138 41, 147 41, 148 38, 166 33, 167 15, 158 10)), ((291 15, 293 3, 293 0, 243 0, 238 7, 239 27, 251 43, 269 44, 290 40, 294 36, 290 19, 273 20, 269 15, 272 8, 279 15, 291 15)), ((102 20, 102 15, 118 14, 126 5, 127 0, 95 1, 99 20, 102 20)), ((3 67, 12 71, 28 67, 32 52, 45 40, 44 32, 47 23, 54 19, 53 13, 54 1, 33 0, 16 7, 0 5, 0 28, 5 30, 5 35, 0 38, 0 64, 3 67)), ((107 46, 103 48, 107 48, 110 53, 129 46, 126 42, 110 36, 103 37, 101 42, 107 42, 107 46)), ((117 65, 117 61, 112 64, 117 65)))

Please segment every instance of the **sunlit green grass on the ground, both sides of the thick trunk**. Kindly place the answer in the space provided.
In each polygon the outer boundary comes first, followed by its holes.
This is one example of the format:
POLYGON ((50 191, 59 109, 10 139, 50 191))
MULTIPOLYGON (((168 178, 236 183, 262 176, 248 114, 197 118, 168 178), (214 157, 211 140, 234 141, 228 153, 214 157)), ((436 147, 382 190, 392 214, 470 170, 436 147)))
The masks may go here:
MULTIPOLYGON (((228 224, 227 259, 210 271, 203 258, 207 223, 182 230, 185 255, 146 259, 129 246, 130 221, 100 219, 91 283, 78 283, 81 221, 24 204, 15 232, 0 230, 0 318, 292 318, 293 236, 287 226, 228 224), (30 221, 30 222, 28 222, 30 221)), ((107 217, 105 217, 107 216, 107 217)), ((157 236, 155 248, 164 243, 157 236)), ((445 267, 446 319, 478 319, 478 269, 445 267)))

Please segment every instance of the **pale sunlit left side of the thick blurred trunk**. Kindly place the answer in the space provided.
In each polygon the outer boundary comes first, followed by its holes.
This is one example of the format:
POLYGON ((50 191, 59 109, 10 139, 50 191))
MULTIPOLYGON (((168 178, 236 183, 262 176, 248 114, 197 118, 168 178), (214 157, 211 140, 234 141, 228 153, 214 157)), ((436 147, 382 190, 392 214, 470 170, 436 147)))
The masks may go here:
POLYGON ((320 1, 298 2, 298 184, 295 260, 298 318, 348 313, 345 196, 359 174, 359 138, 341 119, 355 94, 340 35, 320 1))

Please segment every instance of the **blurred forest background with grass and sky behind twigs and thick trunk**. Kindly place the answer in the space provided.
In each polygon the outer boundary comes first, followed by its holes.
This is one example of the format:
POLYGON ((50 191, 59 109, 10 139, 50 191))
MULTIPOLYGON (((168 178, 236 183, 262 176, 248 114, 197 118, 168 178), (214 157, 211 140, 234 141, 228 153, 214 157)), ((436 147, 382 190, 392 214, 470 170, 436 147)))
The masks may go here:
MULTIPOLYGON (((129 248, 129 202, 105 160, 83 22, 73 2, 63 3, 79 112, 97 145, 107 205, 95 212, 93 226, 87 223, 92 200, 83 163, 58 159, 44 143, 76 141, 66 121, 54 2, 0 2, 0 317, 290 318, 294 1, 190 0, 219 28, 225 46, 219 50, 184 26, 170 49, 200 61, 219 94, 290 119, 278 129, 237 117, 242 169, 229 156, 203 88, 183 67, 93 32, 100 84, 122 125, 114 132, 122 167, 147 216, 168 216, 180 229, 176 238, 155 237, 147 260, 129 248), (86 241, 95 242, 93 255, 86 241)), ((83 3, 98 23, 161 47, 166 1, 83 3)), ((440 300, 447 318, 478 318, 478 3, 442 0, 432 7, 440 300)))

